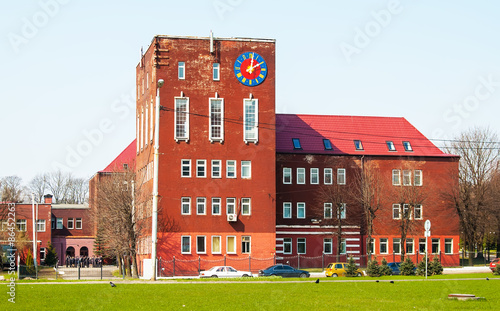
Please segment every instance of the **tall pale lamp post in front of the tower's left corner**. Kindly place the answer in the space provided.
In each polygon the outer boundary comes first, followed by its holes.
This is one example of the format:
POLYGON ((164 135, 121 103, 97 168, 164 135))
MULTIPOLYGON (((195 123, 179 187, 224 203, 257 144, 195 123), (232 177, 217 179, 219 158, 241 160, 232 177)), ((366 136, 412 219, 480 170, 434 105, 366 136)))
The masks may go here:
POLYGON ((165 84, 163 79, 159 79, 156 85, 156 107, 155 107, 155 146, 153 158, 153 211, 152 211, 152 232, 151 232, 151 266, 153 269, 152 281, 156 281, 156 240, 158 236, 158 162, 160 145, 160 88, 165 84))

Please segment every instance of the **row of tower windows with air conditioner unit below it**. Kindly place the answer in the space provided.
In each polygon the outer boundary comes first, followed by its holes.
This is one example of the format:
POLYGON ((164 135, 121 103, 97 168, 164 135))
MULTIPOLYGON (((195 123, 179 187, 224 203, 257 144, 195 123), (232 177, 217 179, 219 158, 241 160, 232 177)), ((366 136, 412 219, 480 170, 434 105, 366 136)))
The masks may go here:
MULTIPOLYGON (((196 215, 207 215, 207 198, 197 197, 196 204, 196 215)), ((236 198, 226 198, 226 214, 236 214, 236 198)), ((252 213, 252 199, 251 198, 241 198, 239 201, 241 206, 241 215, 251 215, 252 213)), ((222 199, 212 198, 210 202, 210 210, 212 215, 221 215, 222 209, 222 199)), ((181 198, 181 214, 191 215, 191 197, 181 198)))

